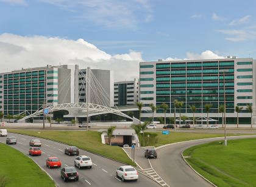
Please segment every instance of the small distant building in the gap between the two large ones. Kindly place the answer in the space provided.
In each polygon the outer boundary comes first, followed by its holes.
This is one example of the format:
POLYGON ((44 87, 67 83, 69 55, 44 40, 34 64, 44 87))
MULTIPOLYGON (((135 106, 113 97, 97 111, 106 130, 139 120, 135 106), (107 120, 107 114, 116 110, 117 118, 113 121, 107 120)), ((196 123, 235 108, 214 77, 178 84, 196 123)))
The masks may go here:
POLYGON ((126 106, 138 102, 138 80, 115 82, 114 101, 116 106, 126 106))

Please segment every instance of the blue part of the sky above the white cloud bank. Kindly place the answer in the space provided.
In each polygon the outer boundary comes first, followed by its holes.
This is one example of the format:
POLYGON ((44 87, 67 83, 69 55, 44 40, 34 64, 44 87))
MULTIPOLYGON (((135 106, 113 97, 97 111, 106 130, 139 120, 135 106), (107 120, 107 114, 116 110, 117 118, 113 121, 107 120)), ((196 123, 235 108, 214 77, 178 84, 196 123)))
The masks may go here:
POLYGON ((146 61, 201 58, 205 50, 256 58, 255 7, 254 0, 0 0, 0 35, 82 38, 146 61))

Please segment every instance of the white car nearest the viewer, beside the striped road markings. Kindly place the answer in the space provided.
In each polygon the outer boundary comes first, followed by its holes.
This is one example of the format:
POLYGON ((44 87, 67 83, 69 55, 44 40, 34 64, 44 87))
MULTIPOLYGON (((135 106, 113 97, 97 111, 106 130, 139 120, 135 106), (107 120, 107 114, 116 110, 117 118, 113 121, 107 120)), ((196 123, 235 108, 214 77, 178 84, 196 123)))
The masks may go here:
POLYGON ((138 171, 132 166, 121 166, 116 169, 116 178, 122 178, 125 180, 138 180, 138 171))

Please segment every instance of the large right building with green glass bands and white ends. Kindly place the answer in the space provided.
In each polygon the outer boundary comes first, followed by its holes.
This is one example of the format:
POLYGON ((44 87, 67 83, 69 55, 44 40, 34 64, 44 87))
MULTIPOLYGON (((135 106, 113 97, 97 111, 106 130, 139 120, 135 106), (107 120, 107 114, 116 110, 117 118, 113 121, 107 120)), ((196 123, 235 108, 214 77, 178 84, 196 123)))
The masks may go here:
MULTIPOLYGON (((207 117, 205 104, 212 104, 209 117, 221 123, 219 106, 224 104, 226 90, 226 122, 236 123, 235 106, 242 106, 240 123, 251 123, 247 104, 255 109, 255 67, 252 58, 214 60, 151 61, 140 63, 140 101, 143 120, 152 117, 149 104, 159 107, 155 117, 163 117, 162 103, 169 109, 166 117, 174 117, 174 100, 183 101, 181 115, 193 117, 190 106, 196 106, 195 117, 207 117), (225 72, 225 75, 224 73, 225 72), (224 79, 225 77, 225 79, 224 79)), ((179 117, 179 109, 176 110, 179 117)))

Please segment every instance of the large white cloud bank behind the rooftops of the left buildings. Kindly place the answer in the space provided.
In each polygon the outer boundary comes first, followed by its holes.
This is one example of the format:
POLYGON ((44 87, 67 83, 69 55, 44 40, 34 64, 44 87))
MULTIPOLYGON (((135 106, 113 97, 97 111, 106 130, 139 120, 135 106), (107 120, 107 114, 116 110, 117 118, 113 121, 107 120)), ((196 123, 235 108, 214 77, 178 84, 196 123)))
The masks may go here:
POLYGON ((115 80, 132 80, 139 75, 140 52, 110 55, 84 39, 48 38, 45 36, 0 35, 0 72, 28 67, 79 64, 81 69, 110 69, 115 80), (7 65, 8 64, 8 65, 7 65))

